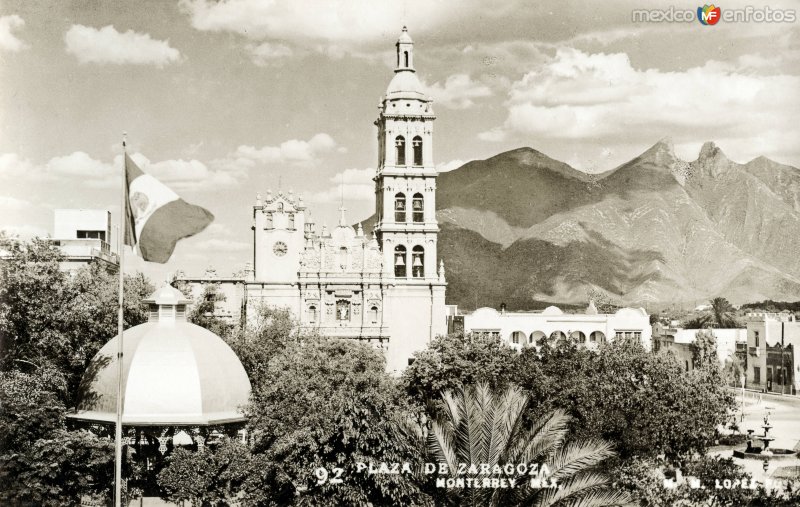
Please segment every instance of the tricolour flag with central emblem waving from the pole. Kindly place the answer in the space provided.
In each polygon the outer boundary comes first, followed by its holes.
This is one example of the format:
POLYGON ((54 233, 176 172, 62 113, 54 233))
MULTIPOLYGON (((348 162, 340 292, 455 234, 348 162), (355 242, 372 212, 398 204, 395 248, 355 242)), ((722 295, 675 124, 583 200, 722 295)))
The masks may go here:
POLYGON ((125 154, 125 244, 138 246, 149 262, 169 260, 178 240, 193 236, 214 220, 205 208, 189 204, 145 174, 125 154))

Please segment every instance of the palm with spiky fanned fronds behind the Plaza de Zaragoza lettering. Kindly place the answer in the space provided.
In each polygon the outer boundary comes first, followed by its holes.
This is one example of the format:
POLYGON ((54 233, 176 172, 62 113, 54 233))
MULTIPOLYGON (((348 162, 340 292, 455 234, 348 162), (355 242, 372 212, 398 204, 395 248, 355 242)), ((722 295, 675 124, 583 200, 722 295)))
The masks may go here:
POLYGON ((629 496, 611 490, 610 479, 596 470, 613 456, 611 445, 601 440, 565 442, 569 417, 562 411, 524 424, 527 400, 517 387, 499 394, 486 384, 447 391, 442 395, 443 416, 428 436, 429 446, 454 479, 513 478, 513 472, 504 470, 506 465, 514 470, 520 463, 536 463, 542 466, 539 478, 556 482, 558 488, 529 487, 530 477, 520 474, 519 487, 451 489, 448 494, 459 505, 628 505, 629 496), (461 464, 476 468, 467 468, 464 474, 461 464), (481 471, 481 465, 488 465, 488 470, 481 471), (498 471, 490 471, 496 465, 498 471))

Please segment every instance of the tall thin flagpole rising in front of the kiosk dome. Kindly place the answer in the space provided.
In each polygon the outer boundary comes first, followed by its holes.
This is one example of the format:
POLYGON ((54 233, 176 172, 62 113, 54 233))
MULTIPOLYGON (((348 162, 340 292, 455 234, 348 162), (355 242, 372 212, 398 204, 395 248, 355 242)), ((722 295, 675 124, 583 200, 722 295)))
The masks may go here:
POLYGON ((123 235, 127 231, 128 214, 125 202, 125 186, 127 175, 125 171, 127 156, 127 134, 122 133, 122 188, 120 189, 120 229, 117 234, 119 247, 119 312, 117 315, 117 420, 114 432, 114 505, 122 506, 122 332, 123 332, 123 302, 124 302, 124 261, 125 261, 125 240, 123 235))

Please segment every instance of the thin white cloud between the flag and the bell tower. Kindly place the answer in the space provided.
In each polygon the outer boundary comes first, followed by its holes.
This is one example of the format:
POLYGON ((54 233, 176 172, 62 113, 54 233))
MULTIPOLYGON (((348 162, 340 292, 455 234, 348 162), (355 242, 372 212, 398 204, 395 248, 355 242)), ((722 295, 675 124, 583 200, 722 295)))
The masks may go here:
POLYGON ((290 139, 278 146, 239 146, 228 158, 241 164, 253 166, 262 164, 312 165, 320 157, 333 151, 344 151, 328 134, 317 134, 308 141, 290 139))

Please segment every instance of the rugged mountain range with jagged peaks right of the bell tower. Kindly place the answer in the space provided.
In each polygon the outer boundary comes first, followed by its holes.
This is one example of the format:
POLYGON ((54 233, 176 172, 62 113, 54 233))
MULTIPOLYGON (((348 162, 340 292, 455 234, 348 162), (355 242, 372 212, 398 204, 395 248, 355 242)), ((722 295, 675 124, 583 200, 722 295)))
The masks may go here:
MULTIPOLYGON (((437 182, 447 302, 466 308, 800 299, 800 170, 662 140, 590 175, 532 148, 437 182)), ((368 220, 367 223, 371 223, 368 220)))

